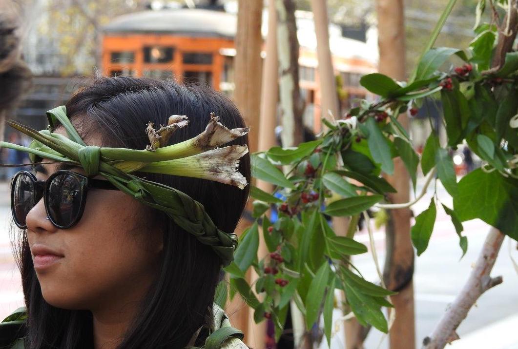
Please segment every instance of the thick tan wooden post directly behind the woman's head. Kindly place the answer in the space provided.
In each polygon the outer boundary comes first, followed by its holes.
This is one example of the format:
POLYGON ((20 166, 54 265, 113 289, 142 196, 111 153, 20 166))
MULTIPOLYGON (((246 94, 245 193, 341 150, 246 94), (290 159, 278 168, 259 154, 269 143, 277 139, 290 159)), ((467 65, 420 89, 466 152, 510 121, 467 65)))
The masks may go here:
MULTIPOLYGON (((235 92, 234 99, 246 124, 251 127, 249 133, 250 152, 257 151, 259 116, 261 108, 261 37, 263 2, 240 0, 237 16, 236 60, 235 60, 235 92)), ((251 204, 248 205, 251 210, 251 204)), ((239 224, 242 232, 246 224, 239 224)), ((254 270, 247 273, 247 281, 251 283, 257 276, 254 270)), ((244 341, 254 348, 264 348, 266 326, 255 324, 253 312, 239 298, 235 297, 227 306, 233 326, 245 333, 244 341)))

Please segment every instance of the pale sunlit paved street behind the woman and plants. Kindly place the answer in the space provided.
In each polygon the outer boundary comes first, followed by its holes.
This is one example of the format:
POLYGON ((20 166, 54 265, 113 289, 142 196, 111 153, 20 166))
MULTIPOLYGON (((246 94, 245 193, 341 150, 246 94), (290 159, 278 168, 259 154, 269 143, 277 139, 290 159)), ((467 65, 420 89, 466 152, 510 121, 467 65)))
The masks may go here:
MULTIPOLYGON (((418 192, 420 188, 418 187, 418 192)), ((414 205, 415 215, 428 207, 429 195, 414 205)), ((438 197, 444 204, 451 205, 451 198, 438 187, 438 197)), ((8 226, 10 223, 8 188, 0 183, 0 317, 23 304, 20 277, 13 262, 9 246, 8 226)), ((471 270, 488 231, 488 226, 480 221, 464 223, 463 234, 468 237, 468 252, 459 261, 461 249, 449 216, 441 208, 437 211, 437 222, 430 244, 425 253, 415 260, 415 313, 416 342, 418 348, 461 289, 471 270)), ((356 239, 368 245, 367 233, 360 232, 356 239)), ((376 249, 381 267, 384 261, 384 234, 375 232, 376 249)), ((498 256, 492 275, 503 277, 503 283, 491 289, 471 309, 466 320, 458 328, 461 340, 448 346, 452 349, 518 349, 518 274, 514 269, 509 252, 509 239, 506 238, 498 256)), ((515 244, 512 254, 518 261, 515 244)), ((369 254, 355 257, 354 264, 363 275, 377 282, 378 277, 372 257, 369 254)), ((343 348, 343 338, 333 339, 333 348, 343 348)), ((382 333, 372 330, 366 341, 366 349, 388 348, 388 340, 380 340, 382 333)))

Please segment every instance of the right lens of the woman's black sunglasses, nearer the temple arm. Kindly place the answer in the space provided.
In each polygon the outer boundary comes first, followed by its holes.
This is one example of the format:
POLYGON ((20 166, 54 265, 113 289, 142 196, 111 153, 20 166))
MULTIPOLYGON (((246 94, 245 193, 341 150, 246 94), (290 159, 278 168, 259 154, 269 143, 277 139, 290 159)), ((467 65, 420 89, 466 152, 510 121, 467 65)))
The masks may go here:
POLYGON ((54 223, 62 227, 73 225, 82 205, 81 179, 70 174, 54 176, 47 191, 47 213, 54 223))

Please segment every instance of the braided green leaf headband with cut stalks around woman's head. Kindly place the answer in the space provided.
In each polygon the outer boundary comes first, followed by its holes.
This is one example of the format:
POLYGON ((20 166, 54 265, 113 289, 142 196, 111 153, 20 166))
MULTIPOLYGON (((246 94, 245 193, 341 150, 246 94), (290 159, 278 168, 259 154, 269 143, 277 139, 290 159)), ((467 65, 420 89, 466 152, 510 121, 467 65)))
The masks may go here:
POLYGON ((243 189, 247 181, 237 171, 237 166, 239 159, 248 153, 248 147, 218 147, 247 134, 249 127, 229 130, 219 123, 218 116, 211 113, 205 131, 192 139, 166 146, 177 129, 189 124, 186 116, 172 115, 167 125, 158 130, 149 123, 146 132, 151 144, 144 150, 136 150, 86 145, 68 119, 64 105, 49 110, 47 118, 48 129, 39 132, 17 122, 7 122, 33 141, 28 147, 8 142, 0 142, 0 145, 29 153, 33 163, 47 158, 81 166, 87 176, 100 174, 143 204, 164 211, 182 229, 196 236, 202 244, 209 245, 225 266, 234 260, 237 235, 219 230, 202 204, 175 188, 131 173, 140 171, 202 178, 243 189), (57 122, 63 125, 68 138, 50 132, 57 122))

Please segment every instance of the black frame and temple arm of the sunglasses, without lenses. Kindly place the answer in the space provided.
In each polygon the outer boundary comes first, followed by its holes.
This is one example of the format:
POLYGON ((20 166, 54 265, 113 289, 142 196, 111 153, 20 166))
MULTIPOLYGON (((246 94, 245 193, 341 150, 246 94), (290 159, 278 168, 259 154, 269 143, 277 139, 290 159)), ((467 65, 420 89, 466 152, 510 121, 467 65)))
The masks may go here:
MULTIPOLYGON (((39 194, 38 190, 42 190, 41 196, 43 197, 43 200, 44 200, 45 211, 47 213, 47 217, 49 218, 52 225, 54 225, 55 227, 57 227, 59 229, 69 229, 69 228, 73 227, 74 225, 76 225, 81 220, 81 217, 83 216, 83 213, 84 213, 84 206, 87 201, 88 190, 90 188, 120 190, 119 188, 117 188, 116 186, 111 184, 108 180, 89 178, 80 173, 77 173, 74 171, 69 171, 69 170, 56 171, 56 172, 52 173, 49 176, 49 178, 47 178, 47 180, 38 180, 32 172, 28 172, 28 171, 24 171, 24 170, 19 171, 14 176, 12 176, 10 188, 11 188, 11 214, 12 214, 13 220, 15 221, 16 226, 18 226, 20 229, 27 229, 26 223, 24 225, 21 225, 18 223, 17 218, 16 218, 16 213, 15 213, 15 205, 14 205, 14 203, 15 203, 14 189, 15 188, 13 188, 13 185, 15 185, 15 183, 16 183, 15 179, 17 179, 20 175, 27 175, 29 178, 32 179, 33 186, 34 186, 34 194, 39 194), (82 193, 81 204, 79 206, 79 212, 78 212, 76 218, 70 224, 67 224, 67 225, 57 224, 57 222, 55 222, 52 219, 52 217, 50 217, 49 208, 48 208, 49 199, 47 198, 47 196, 50 195, 49 186, 50 186, 52 180, 56 176, 63 175, 63 174, 74 176, 77 179, 77 181, 79 182, 79 185, 81 187, 81 193, 82 193)), ((36 204, 41 200, 41 198, 38 199, 37 197, 36 197, 36 199, 37 199, 37 201, 35 200, 34 206, 36 206, 36 204)), ((33 206, 33 208, 34 208, 34 206, 33 206)), ((26 217, 25 217, 25 219, 26 219, 26 217)))

